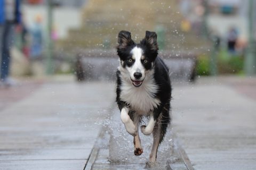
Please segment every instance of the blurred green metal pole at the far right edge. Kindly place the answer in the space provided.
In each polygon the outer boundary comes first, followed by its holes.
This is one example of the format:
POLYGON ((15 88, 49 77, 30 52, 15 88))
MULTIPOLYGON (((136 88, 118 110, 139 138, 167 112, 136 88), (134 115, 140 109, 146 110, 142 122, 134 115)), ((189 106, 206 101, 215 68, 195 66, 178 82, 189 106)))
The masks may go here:
POLYGON ((248 40, 247 53, 245 57, 245 73, 246 75, 256 74, 256 45, 254 40, 254 0, 249 0, 249 17, 248 17, 248 40))

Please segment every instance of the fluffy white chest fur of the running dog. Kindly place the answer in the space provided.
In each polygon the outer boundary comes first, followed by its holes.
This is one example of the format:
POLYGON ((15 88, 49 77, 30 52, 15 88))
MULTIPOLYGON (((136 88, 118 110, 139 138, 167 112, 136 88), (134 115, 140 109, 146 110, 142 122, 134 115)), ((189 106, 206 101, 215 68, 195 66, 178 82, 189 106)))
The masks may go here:
POLYGON ((130 104, 131 108, 138 114, 148 114, 160 104, 160 100, 154 96, 158 86, 152 77, 145 78, 140 87, 134 87, 130 78, 127 78, 124 72, 122 74, 122 71, 121 77, 120 98, 127 104, 130 104))

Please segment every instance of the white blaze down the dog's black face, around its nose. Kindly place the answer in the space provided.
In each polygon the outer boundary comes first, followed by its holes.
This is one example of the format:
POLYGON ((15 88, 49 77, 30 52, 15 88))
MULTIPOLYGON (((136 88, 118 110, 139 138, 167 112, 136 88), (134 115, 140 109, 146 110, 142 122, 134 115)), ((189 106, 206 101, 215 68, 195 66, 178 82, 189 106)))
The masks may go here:
POLYGON ((145 77, 145 68, 141 64, 141 60, 143 58, 143 56, 142 56, 142 49, 139 48, 139 47, 134 47, 131 50, 131 54, 132 54, 132 59, 135 60, 135 62, 134 62, 134 64, 131 67, 127 67, 127 70, 130 72, 130 77, 133 80, 135 80, 133 74, 135 72, 141 72, 141 74, 142 74, 141 80, 143 80, 144 77, 145 77))

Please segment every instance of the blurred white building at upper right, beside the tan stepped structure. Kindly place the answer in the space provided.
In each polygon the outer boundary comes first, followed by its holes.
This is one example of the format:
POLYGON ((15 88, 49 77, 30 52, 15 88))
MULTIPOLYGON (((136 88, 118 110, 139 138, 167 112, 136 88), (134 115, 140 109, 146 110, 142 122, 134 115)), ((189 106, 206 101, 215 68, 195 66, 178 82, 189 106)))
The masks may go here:
MULTIPOLYGON (((226 39, 228 31, 236 29, 239 39, 243 40, 247 40, 248 37, 248 4, 249 0, 180 1, 182 13, 191 22, 200 20, 198 16, 203 15, 207 10, 206 23, 209 32, 214 31, 222 39, 226 39)), ((254 6, 256 8, 256 3, 254 3, 254 6)), ((256 13, 254 18, 256 20, 256 13)))

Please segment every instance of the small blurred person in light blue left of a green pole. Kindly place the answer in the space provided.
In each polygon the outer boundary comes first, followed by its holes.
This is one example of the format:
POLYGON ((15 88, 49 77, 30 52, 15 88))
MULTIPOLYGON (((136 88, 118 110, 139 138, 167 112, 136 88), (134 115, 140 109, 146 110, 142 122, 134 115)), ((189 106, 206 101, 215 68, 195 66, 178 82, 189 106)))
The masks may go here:
POLYGON ((31 29, 31 48, 30 56, 33 58, 42 55, 43 33, 42 33, 42 16, 36 15, 33 28, 31 29))

